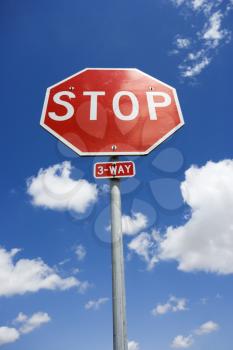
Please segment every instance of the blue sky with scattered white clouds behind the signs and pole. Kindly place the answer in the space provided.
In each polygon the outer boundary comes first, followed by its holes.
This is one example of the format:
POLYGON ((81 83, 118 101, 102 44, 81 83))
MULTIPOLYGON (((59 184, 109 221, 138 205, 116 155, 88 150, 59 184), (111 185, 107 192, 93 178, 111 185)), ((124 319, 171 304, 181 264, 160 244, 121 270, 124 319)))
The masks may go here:
POLYGON ((131 157, 137 176, 122 181, 129 349, 230 350, 232 8, 1 2, 3 349, 112 346, 108 182, 93 178, 100 158, 76 156, 39 120, 48 86, 137 67, 176 87, 186 125, 131 157))

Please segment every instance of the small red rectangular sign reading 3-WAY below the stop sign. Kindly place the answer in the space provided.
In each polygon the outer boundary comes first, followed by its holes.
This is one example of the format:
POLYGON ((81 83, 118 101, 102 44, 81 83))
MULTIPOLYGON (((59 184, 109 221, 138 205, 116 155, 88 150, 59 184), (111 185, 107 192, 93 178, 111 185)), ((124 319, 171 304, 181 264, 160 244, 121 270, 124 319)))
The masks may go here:
POLYGON ((135 176, 134 162, 106 162, 94 165, 94 177, 96 178, 121 178, 135 176))

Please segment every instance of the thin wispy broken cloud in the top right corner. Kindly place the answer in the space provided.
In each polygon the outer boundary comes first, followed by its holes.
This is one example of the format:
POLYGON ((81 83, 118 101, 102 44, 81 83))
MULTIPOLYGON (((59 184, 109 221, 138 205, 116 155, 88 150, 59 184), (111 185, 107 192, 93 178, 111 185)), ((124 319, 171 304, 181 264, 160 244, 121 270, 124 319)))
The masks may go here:
MULTIPOLYGON (((208 0, 171 0, 181 14, 191 12, 198 16, 197 24, 193 22, 191 40, 186 41, 186 35, 175 36, 175 49, 170 53, 181 55, 182 63, 178 68, 183 78, 194 78, 210 65, 218 52, 220 45, 230 42, 231 31, 224 27, 224 20, 233 9, 232 1, 224 3, 222 0, 210 2, 208 0), (185 11, 183 11, 185 9, 185 11), (200 26, 200 23, 201 26, 200 26), (177 39, 178 38, 178 39, 177 39), (184 38, 184 39, 182 39, 184 38), (183 50, 183 49, 187 50, 183 50)), ((184 20, 190 18, 184 16, 184 20)))

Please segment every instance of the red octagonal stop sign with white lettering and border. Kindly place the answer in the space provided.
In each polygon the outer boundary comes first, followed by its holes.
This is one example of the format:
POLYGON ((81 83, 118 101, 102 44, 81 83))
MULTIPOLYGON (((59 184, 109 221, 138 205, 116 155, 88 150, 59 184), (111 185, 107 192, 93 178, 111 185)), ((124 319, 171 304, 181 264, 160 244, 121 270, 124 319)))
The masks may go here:
POLYGON ((49 87, 41 125, 79 155, 148 154, 184 124, 176 90, 138 69, 84 69, 49 87))

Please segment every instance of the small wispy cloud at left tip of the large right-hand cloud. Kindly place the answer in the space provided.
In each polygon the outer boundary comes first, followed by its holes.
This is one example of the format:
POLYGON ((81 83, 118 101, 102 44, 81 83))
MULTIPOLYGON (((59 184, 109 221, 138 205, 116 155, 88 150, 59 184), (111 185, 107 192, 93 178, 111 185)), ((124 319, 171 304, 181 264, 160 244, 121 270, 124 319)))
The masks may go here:
POLYGON ((139 255, 147 264, 147 269, 151 270, 158 262, 157 250, 160 237, 156 231, 151 234, 142 232, 128 244, 129 250, 139 255))

